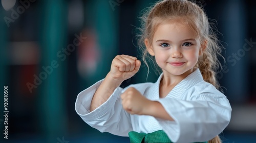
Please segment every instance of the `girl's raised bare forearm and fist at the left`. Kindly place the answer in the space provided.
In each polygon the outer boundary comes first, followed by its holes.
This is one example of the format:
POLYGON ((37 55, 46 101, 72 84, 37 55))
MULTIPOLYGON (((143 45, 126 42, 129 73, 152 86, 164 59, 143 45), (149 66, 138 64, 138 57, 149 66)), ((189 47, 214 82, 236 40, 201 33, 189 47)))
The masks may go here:
POLYGON ((134 76, 139 68, 140 61, 136 57, 127 55, 116 56, 111 64, 111 70, 96 90, 90 111, 92 112, 106 102, 114 90, 126 79, 134 76))

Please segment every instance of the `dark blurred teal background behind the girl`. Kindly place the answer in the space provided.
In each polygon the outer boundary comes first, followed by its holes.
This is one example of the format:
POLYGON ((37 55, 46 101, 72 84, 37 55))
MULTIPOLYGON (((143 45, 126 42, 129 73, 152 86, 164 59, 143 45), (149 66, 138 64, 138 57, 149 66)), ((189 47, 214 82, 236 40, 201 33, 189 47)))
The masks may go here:
MULTIPOLYGON (((105 77, 119 54, 138 57, 140 11, 155 1, 2 0, 0 142, 130 142, 100 133, 75 112, 77 94, 105 77), (3 93, 3 92, 2 92, 3 93)), ((201 0, 218 22, 226 63, 218 74, 232 106, 223 142, 256 140, 256 2, 201 0)), ((158 76, 150 69, 148 82, 158 76)), ((146 81, 146 68, 121 87, 146 81)))

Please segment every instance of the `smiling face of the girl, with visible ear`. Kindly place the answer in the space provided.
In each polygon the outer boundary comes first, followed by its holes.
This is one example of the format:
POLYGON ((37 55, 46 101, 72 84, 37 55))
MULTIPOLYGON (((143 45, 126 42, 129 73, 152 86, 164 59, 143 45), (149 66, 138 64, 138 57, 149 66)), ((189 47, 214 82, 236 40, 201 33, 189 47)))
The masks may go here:
POLYGON ((154 34, 152 45, 145 44, 150 55, 155 56, 164 74, 188 75, 197 64, 200 41, 195 33, 180 23, 164 23, 154 34))

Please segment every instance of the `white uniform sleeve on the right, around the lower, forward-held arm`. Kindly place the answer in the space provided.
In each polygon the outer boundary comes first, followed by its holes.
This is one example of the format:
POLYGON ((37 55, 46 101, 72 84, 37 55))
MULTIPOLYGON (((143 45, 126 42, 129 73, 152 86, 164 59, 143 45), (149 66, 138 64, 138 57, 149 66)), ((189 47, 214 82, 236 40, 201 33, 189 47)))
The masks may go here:
POLYGON ((231 107, 224 95, 200 94, 191 100, 157 100, 175 120, 157 118, 173 142, 208 141, 220 134, 230 121, 231 107))

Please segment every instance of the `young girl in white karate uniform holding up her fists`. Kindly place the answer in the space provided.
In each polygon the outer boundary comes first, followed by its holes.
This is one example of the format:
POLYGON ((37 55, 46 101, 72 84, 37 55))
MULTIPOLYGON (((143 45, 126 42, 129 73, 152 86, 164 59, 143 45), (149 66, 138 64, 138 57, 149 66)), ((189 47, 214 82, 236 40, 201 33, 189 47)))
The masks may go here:
POLYGON ((217 89, 221 50, 206 14, 192 2, 165 0, 142 20, 142 59, 160 67, 159 79, 122 89, 141 63, 116 56, 106 77, 78 94, 76 112, 101 132, 129 134, 131 142, 221 142, 218 134, 230 121, 231 107, 217 89))

